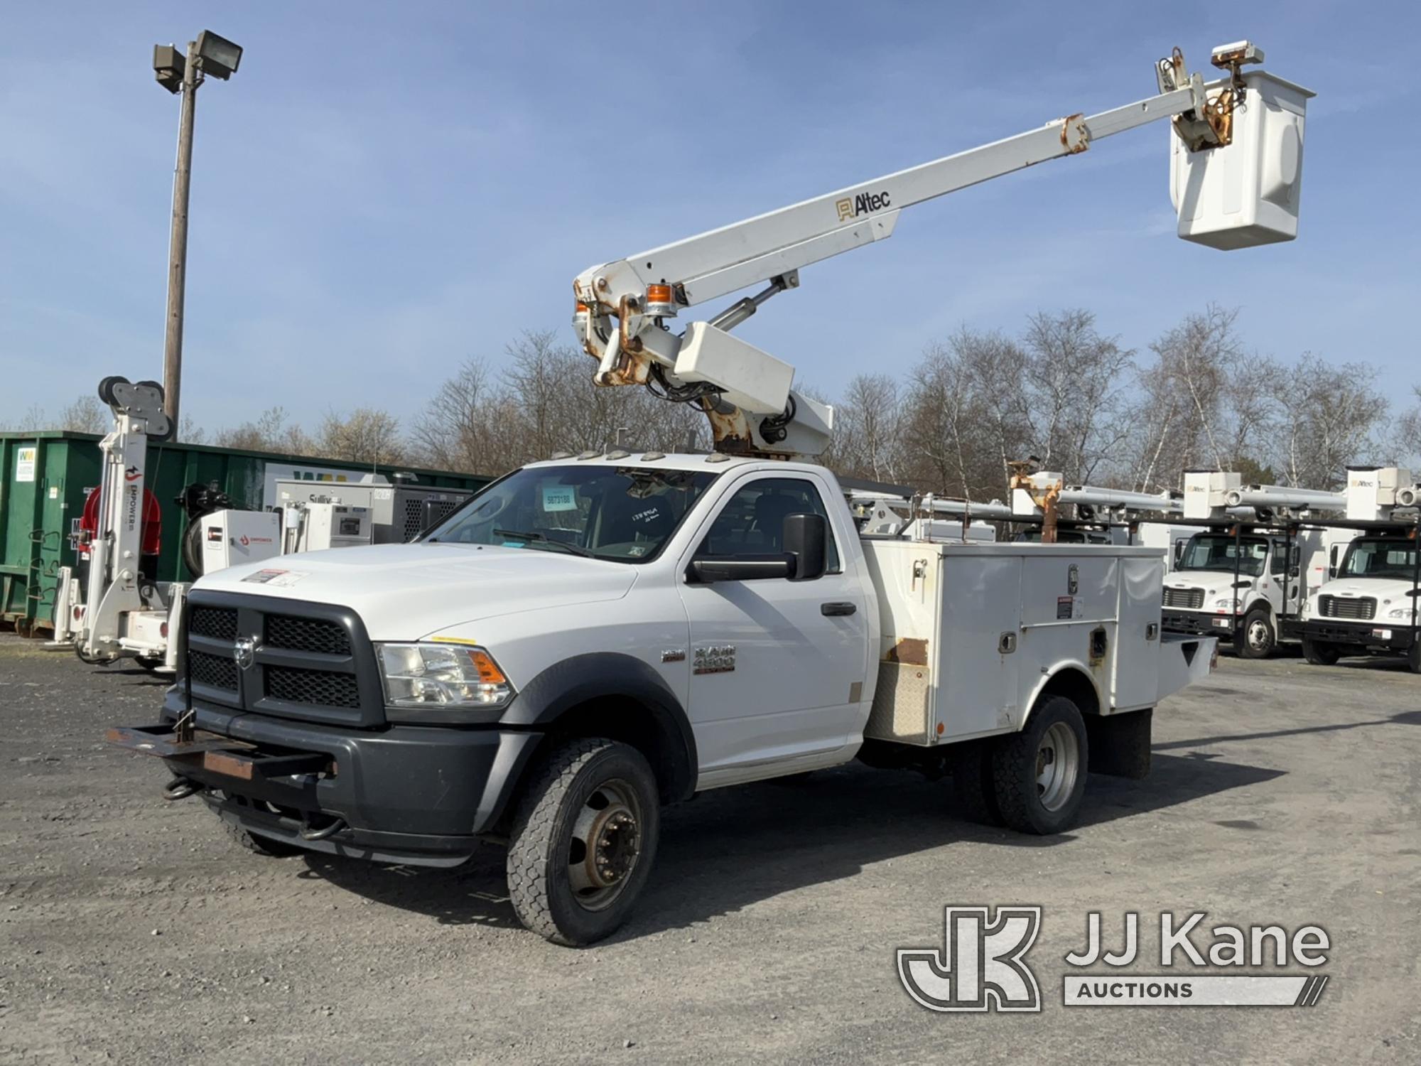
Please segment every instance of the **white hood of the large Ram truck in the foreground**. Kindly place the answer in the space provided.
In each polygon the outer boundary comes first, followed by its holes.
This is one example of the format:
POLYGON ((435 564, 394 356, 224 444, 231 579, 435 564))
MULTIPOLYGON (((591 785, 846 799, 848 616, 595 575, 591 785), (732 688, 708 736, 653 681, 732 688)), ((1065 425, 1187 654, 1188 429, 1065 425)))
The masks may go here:
POLYGON ((360 614, 371 640, 415 640, 519 611, 620 600, 635 580, 631 564, 541 549, 372 544, 243 563, 193 591, 338 604, 360 614))

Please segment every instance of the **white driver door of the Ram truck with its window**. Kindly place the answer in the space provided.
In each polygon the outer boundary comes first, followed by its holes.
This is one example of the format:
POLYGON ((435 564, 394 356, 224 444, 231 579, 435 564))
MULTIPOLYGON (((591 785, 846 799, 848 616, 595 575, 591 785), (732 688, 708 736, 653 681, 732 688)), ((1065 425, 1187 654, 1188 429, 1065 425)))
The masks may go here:
POLYGON ((722 502, 681 560, 679 591, 691 620, 688 714, 696 731, 701 787, 773 776, 783 763, 831 765, 857 721, 867 620, 861 577, 840 549, 847 513, 824 506, 809 475, 750 475, 722 502), (782 550, 783 520, 818 513, 828 527, 823 577, 699 584, 696 556, 766 556, 782 550))

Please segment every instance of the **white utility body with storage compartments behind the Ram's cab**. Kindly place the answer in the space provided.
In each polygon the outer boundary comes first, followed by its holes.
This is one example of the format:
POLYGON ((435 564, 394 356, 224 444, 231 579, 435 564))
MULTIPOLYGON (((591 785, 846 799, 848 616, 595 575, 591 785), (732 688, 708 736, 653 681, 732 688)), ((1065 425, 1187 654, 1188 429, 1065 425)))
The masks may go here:
MULTIPOLYGON (((1194 677, 1161 681, 1152 549, 868 540, 864 553, 881 630, 868 736, 934 745, 1012 732, 1067 667, 1091 678, 1101 714, 1154 706, 1194 677)), ((1206 671, 1212 644, 1198 644, 1206 671)))

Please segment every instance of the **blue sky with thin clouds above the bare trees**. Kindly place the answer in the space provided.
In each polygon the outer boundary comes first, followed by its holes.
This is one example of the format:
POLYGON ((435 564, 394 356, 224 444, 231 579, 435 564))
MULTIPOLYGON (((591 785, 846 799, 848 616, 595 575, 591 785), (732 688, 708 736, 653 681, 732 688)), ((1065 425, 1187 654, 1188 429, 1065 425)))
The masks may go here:
POLYGON ((205 27, 246 54, 198 101, 199 424, 412 414, 522 330, 570 341, 587 266, 1147 97, 1171 45, 1201 68, 1241 37, 1319 94, 1299 240, 1177 240, 1161 124, 914 208, 740 334, 833 394, 963 323, 1081 306, 1144 348, 1215 300, 1259 351, 1421 381, 1412 4, 7 4, 0 422, 161 375, 178 101, 149 58, 205 27))

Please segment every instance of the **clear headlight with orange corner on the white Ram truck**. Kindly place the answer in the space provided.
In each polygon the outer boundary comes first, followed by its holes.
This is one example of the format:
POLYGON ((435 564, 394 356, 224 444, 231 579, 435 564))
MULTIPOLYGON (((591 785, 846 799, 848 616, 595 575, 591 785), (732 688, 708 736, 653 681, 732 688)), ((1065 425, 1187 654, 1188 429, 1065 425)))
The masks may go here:
POLYGON ((493 657, 472 644, 377 644, 387 716, 405 722, 466 722, 470 709, 497 709, 513 685, 493 657))

